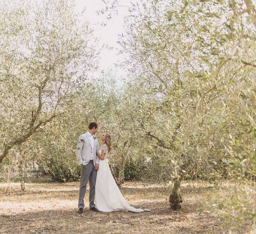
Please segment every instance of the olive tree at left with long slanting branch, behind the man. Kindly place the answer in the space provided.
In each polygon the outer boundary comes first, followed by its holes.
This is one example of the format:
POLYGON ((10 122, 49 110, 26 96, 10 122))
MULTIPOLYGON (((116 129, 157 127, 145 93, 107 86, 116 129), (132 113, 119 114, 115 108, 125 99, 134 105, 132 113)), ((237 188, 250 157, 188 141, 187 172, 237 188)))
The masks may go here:
POLYGON ((97 67, 73 1, 0 3, 0 162, 64 112, 97 67))

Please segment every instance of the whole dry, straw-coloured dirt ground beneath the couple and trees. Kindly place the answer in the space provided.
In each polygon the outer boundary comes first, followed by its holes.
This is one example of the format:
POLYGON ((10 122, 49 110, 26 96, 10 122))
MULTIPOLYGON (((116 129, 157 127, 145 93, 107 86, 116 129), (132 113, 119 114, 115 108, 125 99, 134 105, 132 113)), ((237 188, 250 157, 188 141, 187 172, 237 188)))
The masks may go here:
MULTIPOLYGON (((183 183, 182 209, 169 207, 169 189, 125 182, 121 192, 130 205, 150 212, 96 213, 88 208, 88 190, 83 214, 77 213, 79 182, 0 183, 0 233, 245 233, 242 227, 222 226, 224 219, 204 208, 209 188, 183 183)), ((88 187, 87 187, 88 188, 88 187)))

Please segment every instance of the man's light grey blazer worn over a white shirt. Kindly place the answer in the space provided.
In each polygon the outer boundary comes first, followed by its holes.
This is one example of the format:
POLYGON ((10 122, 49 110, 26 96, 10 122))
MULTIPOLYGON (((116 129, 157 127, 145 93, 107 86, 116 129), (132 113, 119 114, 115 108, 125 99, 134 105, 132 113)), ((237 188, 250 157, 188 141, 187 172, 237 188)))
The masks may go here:
POLYGON ((92 152, 93 152, 93 164, 99 164, 99 157, 96 155, 96 152, 99 150, 99 143, 98 140, 94 139, 94 147, 92 148, 91 142, 87 137, 87 133, 82 134, 78 137, 77 142, 77 160, 79 165, 83 164, 86 165, 91 158, 92 152))

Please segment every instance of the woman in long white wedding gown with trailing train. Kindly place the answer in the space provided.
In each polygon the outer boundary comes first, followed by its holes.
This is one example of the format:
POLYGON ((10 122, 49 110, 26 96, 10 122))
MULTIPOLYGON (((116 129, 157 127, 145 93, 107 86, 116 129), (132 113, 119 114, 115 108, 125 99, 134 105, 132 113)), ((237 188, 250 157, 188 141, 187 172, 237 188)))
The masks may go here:
POLYGON ((111 212, 114 210, 129 210, 137 213, 150 211, 147 209, 136 209, 126 202, 109 168, 108 154, 112 146, 111 136, 109 133, 104 133, 100 137, 100 140, 102 146, 97 153, 100 161, 95 186, 96 208, 103 212, 111 212))

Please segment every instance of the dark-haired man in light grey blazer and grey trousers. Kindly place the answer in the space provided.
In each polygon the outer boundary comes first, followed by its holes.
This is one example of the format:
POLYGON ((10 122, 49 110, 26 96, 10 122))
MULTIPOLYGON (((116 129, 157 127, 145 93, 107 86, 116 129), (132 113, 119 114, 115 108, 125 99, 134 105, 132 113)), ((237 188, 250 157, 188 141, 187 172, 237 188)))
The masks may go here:
POLYGON ((78 138, 77 142, 77 159, 81 166, 81 179, 78 199, 78 213, 83 213, 84 208, 84 196, 86 192, 86 185, 89 180, 90 194, 89 205, 90 210, 99 212, 94 205, 95 196, 95 184, 97 170, 99 169, 99 158, 96 156, 96 152, 99 148, 98 140, 94 137, 94 134, 98 132, 98 125, 95 122, 89 124, 88 132, 82 134, 78 138))

